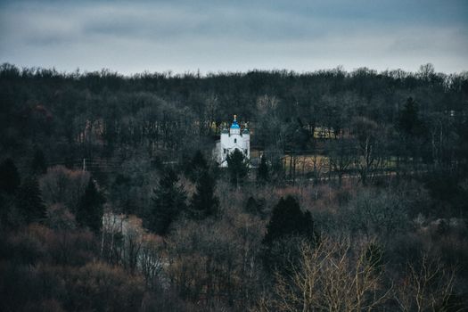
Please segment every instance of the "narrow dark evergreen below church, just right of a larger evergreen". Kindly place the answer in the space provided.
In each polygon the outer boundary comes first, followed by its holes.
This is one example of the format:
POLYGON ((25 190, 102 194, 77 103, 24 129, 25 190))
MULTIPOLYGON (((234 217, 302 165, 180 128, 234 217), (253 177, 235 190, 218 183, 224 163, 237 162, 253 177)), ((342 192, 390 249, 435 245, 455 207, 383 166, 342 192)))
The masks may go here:
POLYGON ((218 213, 219 200, 215 196, 215 180, 209 175, 208 170, 205 170, 198 179, 190 208, 193 218, 205 218, 218 213))

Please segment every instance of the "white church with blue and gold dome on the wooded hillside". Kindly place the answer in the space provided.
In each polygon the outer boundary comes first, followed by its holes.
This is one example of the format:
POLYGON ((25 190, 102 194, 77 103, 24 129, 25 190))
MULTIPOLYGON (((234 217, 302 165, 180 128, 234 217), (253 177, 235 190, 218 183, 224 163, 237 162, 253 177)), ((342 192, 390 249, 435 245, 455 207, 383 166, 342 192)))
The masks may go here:
POLYGON ((235 150, 239 150, 250 160, 250 131, 247 127, 241 129, 234 115, 233 124, 229 130, 221 130, 221 139, 217 142, 215 153, 219 167, 227 167, 226 157, 235 150))

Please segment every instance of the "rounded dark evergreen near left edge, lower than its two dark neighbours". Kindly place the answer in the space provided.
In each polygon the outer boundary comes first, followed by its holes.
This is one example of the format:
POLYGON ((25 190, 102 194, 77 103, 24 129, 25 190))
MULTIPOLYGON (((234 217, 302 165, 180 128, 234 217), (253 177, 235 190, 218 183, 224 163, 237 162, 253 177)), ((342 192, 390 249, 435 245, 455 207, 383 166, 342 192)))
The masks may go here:
POLYGON ((18 189, 16 207, 27 223, 45 218, 46 207, 36 177, 26 178, 18 189))

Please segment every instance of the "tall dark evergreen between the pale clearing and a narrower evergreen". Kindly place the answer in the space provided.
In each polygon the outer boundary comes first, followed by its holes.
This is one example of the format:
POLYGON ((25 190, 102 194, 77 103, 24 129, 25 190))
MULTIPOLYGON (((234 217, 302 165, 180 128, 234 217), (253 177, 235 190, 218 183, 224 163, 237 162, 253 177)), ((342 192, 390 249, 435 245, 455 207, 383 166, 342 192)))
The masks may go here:
POLYGON ((158 188, 153 191, 149 228, 156 234, 167 234, 170 224, 185 210, 185 200, 184 187, 178 184, 176 172, 165 168, 158 188))

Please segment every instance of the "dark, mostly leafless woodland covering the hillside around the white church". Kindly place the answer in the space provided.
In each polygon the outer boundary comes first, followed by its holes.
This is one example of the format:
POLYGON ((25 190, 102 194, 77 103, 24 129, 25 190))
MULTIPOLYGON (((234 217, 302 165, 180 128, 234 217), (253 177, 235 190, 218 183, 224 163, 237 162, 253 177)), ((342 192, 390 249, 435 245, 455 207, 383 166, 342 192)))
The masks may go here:
POLYGON ((5 63, 0 150, 2 311, 468 307, 466 72, 5 63))

